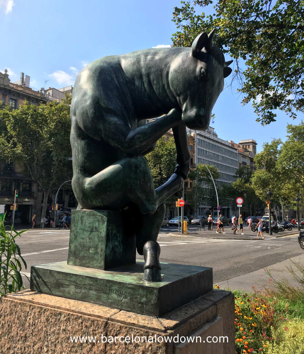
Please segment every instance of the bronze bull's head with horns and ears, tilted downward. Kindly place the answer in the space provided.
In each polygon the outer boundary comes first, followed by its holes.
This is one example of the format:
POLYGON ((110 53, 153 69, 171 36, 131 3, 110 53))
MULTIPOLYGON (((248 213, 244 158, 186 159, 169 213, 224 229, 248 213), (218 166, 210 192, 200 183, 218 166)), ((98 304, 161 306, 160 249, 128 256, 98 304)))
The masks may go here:
POLYGON ((207 129, 224 78, 232 72, 228 65, 233 61, 225 62, 223 52, 213 44, 213 35, 214 30, 198 35, 170 68, 172 92, 182 108, 182 121, 191 129, 207 129))

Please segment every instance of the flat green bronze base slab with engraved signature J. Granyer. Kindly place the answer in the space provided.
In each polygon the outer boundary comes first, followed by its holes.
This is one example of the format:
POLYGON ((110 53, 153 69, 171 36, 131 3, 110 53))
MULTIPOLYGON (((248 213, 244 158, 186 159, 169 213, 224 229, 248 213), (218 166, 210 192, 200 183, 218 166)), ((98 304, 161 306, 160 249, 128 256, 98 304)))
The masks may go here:
POLYGON ((142 280, 142 269, 143 261, 110 270, 35 265, 30 289, 155 317, 212 290, 212 268, 161 263, 162 282, 142 280))

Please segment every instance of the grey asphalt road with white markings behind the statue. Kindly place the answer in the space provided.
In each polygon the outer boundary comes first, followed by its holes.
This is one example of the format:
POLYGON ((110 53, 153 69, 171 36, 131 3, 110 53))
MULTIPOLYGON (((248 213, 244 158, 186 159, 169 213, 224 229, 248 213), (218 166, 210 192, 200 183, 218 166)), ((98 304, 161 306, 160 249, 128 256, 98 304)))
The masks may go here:
MULTIPOLYGON (((213 281, 216 283, 303 254, 295 229, 280 238, 270 238, 264 234, 265 240, 206 239, 197 235, 197 229, 190 225, 188 236, 176 237, 168 235, 176 231, 176 227, 162 228, 157 240, 161 246, 160 261, 212 267, 213 281)), ((230 227, 225 227, 225 231, 226 235, 232 234, 230 227)), ((246 229, 244 233, 256 235, 246 229)), ((208 237, 220 236, 215 234, 215 230, 204 234, 208 237)), ((18 237, 16 242, 28 265, 24 273, 28 274, 31 265, 67 259, 69 230, 29 230, 18 237)), ((142 258, 137 256, 138 259, 142 258)), ((27 279, 23 279, 25 287, 29 287, 27 279)))

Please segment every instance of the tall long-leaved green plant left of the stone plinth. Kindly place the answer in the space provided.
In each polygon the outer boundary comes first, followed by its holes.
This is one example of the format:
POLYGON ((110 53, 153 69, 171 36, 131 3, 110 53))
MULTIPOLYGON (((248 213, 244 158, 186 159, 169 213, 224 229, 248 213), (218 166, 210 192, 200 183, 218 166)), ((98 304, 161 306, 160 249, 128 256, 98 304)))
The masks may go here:
POLYGON ((21 262, 24 268, 27 269, 27 264, 21 256, 20 248, 15 241, 17 236, 21 236, 27 230, 17 232, 13 226, 5 226, 4 218, 0 221, 0 297, 23 289, 23 281, 20 274, 22 269, 21 262))

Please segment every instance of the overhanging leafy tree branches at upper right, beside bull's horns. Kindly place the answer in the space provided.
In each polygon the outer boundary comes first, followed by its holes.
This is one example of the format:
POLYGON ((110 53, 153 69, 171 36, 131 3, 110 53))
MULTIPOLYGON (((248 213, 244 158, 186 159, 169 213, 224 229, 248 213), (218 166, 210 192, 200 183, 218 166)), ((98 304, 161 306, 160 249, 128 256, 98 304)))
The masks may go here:
POLYGON ((291 118, 304 110, 304 1, 219 0, 214 13, 198 14, 212 0, 182 1, 173 20, 173 46, 189 47, 197 34, 216 28, 214 43, 235 59, 233 79, 242 103, 252 100, 257 121, 275 121, 275 109, 291 118), (246 69, 242 70, 245 61, 246 69))

